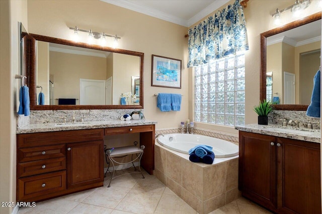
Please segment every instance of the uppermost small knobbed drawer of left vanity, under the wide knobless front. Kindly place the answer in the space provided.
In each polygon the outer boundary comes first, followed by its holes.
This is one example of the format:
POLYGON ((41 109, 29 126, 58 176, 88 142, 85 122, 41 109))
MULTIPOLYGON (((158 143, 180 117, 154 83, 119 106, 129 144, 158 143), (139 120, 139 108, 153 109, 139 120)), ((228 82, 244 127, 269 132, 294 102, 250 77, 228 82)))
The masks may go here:
POLYGON ((54 157, 65 157, 65 154, 65 144, 21 148, 18 149, 18 163, 54 157))

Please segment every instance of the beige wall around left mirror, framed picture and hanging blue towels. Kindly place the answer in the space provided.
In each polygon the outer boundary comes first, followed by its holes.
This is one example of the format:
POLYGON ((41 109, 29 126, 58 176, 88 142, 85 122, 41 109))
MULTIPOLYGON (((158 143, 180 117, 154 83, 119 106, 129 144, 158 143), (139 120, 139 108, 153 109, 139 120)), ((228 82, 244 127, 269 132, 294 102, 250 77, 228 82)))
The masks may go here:
MULTIPOLYGON (((94 1, 28 1, 29 32, 50 37, 71 39, 69 26, 117 34, 119 48, 144 53, 144 115, 157 120, 156 129, 178 127, 188 119, 188 29, 173 23, 94 1), (93 13, 89 13, 89 9, 93 13), (94 13, 95 12, 95 13, 94 13), (48 25, 50 23, 50 25, 48 25), (151 87, 151 55, 182 60, 181 89, 151 87), (154 93, 180 93, 180 112, 160 112, 154 93)), ((81 41, 87 41, 83 34, 81 41)), ((112 42, 111 39, 109 42, 112 42)), ((95 41, 97 42, 97 41, 95 41)), ((129 78, 129 82, 131 79, 129 78)), ((130 91, 130 89, 128 90, 130 91)))

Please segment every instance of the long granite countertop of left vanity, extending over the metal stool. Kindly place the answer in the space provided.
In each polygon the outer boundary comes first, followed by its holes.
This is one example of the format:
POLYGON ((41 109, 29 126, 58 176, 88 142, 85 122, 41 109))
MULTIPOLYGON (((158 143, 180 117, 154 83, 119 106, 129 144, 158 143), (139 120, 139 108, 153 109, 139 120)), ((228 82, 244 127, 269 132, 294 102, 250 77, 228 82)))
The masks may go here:
POLYGON ((108 120, 108 121, 85 121, 83 123, 37 123, 29 124, 24 127, 17 128, 17 134, 47 132, 47 131, 67 131, 79 129, 95 129, 95 128, 111 128, 124 126, 141 126, 157 124, 154 120, 108 120))

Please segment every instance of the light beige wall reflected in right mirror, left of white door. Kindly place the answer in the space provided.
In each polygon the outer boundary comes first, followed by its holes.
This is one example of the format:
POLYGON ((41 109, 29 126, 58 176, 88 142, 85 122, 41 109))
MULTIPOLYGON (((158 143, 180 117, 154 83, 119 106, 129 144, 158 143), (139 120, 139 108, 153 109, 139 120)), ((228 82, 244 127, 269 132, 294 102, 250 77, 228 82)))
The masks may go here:
POLYGON ((273 72, 273 97, 283 100, 282 43, 267 46, 267 72, 273 72), (277 93, 277 94, 275 94, 277 93))

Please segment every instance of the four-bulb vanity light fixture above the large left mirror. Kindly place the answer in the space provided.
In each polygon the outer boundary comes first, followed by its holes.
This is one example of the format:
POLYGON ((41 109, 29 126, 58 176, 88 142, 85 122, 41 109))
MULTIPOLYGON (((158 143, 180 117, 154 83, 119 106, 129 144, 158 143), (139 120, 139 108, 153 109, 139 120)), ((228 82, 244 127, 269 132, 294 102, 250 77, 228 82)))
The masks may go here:
MULTIPOLYGON (((75 26, 74 28, 69 27, 70 30, 74 31, 74 41, 78 42, 79 41, 79 32, 85 32, 89 34, 89 42, 92 44, 94 42, 94 39, 100 39, 100 43, 102 46, 106 46, 106 38, 107 37, 112 37, 114 38, 114 43, 115 40, 117 42, 117 40, 121 39, 121 37, 118 37, 117 35, 109 35, 109 34, 105 34, 105 33, 98 33, 98 32, 94 32, 91 30, 83 30, 83 29, 79 29, 77 28, 77 26, 75 26), (104 42, 105 40, 105 42, 104 42)), ((113 43, 113 48, 114 48, 114 43, 113 43)))

